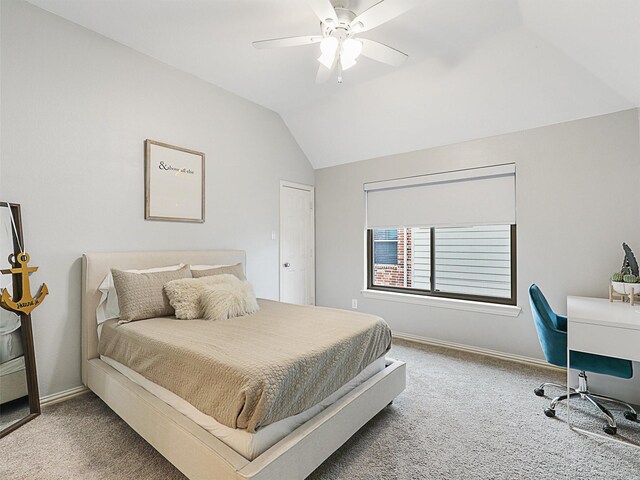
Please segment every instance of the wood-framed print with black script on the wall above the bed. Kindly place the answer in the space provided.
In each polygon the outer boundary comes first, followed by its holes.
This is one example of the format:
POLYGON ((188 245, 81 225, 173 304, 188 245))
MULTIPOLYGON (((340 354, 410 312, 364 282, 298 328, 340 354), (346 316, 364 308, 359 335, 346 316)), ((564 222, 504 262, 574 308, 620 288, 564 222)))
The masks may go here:
POLYGON ((145 220, 204 223, 204 153, 146 139, 145 220))

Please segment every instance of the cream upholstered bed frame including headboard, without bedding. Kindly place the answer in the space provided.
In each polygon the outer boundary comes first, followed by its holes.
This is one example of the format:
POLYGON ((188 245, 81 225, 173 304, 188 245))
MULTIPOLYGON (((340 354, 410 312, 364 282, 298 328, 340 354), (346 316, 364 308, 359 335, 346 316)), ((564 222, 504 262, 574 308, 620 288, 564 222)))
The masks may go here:
POLYGON ((303 479, 404 390, 404 363, 383 360, 378 371, 370 371, 361 383, 351 385, 339 398, 329 399, 320 411, 303 412, 307 417, 298 419, 294 430, 273 446, 257 455, 238 453, 237 448, 212 434, 180 405, 163 397, 161 391, 144 385, 140 379, 136 381, 135 375, 109 363, 107 358, 101 359, 98 352, 98 286, 109 269, 176 263, 244 265, 245 253, 210 250, 96 253, 83 257, 82 377, 89 389, 187 477, 303 479))

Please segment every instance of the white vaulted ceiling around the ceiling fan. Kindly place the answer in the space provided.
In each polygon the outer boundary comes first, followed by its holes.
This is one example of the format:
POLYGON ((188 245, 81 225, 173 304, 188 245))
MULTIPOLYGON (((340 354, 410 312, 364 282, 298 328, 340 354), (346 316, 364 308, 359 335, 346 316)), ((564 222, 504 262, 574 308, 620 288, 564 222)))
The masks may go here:
POLYGON ((418 0, 362 35, 408 61, 342 85, 318 45, 251 46, 318 33, 305 0, 29 1, 275 110, 316 168, 640 106, 638 0, 418 0))

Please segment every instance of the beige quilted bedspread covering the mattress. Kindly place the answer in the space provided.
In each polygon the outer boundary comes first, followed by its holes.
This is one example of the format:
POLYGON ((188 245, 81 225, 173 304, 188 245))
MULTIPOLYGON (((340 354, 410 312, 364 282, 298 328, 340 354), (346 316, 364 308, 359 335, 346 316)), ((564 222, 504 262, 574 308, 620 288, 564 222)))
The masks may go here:
POLYGON ((391 346, 379 317, 259 300, 222 321, 106 322, 99 351, 231 428, 296 415, 338 390, 391 346))

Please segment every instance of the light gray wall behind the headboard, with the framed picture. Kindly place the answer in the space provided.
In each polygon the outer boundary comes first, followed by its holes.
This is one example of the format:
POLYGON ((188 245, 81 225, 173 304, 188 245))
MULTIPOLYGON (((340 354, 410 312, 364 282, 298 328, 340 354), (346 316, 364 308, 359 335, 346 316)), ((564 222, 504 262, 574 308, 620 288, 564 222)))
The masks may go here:
MULTIPOLYGON (((34 312, 42 395, 80 385, 80 256, 240 248, 278 295, 279 180, 314 172, 280 117, 22 1, 2 0, 3 199, 51 294, 34 312), (205 152, 204 224, 144 218, 143 142, 205 152)), ((0 260, 0 262, 3 260, 0 260)))

